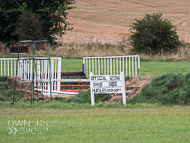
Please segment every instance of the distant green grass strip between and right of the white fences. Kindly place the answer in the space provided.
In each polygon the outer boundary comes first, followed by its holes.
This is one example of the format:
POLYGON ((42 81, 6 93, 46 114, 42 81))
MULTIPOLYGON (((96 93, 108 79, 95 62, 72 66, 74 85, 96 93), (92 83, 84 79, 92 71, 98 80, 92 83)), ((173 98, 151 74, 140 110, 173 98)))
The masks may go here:
MULTIPOLYGON (((62 72, 82 71, 82 59, 62 59, 62 72)), ((141 76, 157 76, 167 72, 187 73, 190 62, 147 62, 141 61, 141 76)))

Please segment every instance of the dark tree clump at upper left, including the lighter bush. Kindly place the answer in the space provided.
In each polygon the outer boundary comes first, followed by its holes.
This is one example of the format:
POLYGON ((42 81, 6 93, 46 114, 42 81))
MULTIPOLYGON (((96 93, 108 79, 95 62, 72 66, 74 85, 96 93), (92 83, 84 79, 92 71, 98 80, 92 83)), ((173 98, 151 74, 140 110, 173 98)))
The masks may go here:
POLYGON ((1 0, 0 41, 43 40, 54 43, 69 29, 67 10, 74 0, 1 0))

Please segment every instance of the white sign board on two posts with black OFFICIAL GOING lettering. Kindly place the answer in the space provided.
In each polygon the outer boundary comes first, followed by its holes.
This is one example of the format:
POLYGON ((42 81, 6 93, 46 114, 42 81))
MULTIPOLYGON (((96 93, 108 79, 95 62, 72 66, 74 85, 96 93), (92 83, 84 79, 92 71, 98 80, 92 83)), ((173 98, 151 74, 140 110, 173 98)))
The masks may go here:
POLYGON ((123 104, 126 105, 124 73, 121 75, 93 75, 90 73, 91 104, 95 104, 94 94, 122 93, 123 104))

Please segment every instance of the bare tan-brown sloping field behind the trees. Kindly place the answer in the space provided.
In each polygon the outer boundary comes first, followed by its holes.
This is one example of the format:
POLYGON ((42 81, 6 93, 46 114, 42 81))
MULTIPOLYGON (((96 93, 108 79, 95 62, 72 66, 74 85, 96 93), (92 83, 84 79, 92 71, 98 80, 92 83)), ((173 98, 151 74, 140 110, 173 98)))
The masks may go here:
POLYGON ((163 12, 177 26, 181 40, 190 42, 189 0, 77 0, 68 11, 74 29, 60 42, 117 43, 128 36, 129 25, 146 13, 163 12))

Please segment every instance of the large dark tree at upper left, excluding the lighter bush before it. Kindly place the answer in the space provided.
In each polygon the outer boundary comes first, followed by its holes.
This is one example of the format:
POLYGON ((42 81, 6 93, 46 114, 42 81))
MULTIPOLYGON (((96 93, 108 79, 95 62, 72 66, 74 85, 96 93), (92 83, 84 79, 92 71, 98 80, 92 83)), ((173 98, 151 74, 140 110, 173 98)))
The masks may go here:
MULTIPOLYGON (((57 35, 62 36, 66 30, 69 30, 66 11, 73 8, 70 6, 73 2, 74 0, 0 1, 0 35, 2 35, 0 41, 18 41, 19 36, 16 30, 18 17, 26 11, 31 11, 41 21, 43 37, 51 43, 55 42, 57 35)), ((20 20, 22 20, 21 17, 20 20)))

